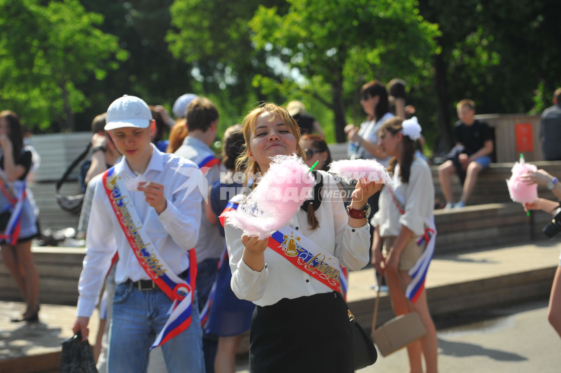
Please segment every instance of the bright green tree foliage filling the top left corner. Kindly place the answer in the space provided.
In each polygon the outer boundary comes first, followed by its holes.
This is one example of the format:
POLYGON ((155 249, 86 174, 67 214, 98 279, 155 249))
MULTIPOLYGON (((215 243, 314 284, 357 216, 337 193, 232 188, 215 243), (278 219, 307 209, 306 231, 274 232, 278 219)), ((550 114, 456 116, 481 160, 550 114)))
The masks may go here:
POLYGON ((0 103, 30 125, 73 130, 90 103, 77 88, 103 80, 128 53, 98 29, 103 16, 77 0, 0 0, 0 103))

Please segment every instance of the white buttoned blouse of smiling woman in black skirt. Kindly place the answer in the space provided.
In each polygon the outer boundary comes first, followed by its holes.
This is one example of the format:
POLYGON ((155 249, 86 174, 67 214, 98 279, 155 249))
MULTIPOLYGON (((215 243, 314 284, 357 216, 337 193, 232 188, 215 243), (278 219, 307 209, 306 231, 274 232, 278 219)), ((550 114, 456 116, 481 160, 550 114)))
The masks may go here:
MULTIPOLYGON (((325 190, 338 190, 331 174, 319 171, 323 177, 325 190)), ((300 209, 293 217, 290 227, 304 234, 321 247, 322 252, 333 254, 341 265, 350 270, 360 270, 368 263, 370 248, 370 226, 360 228, 348 225, 347 211, 340 195, 325 196, 319 209, 315 211, 319 228, 308 229, 307 213, 300 209)), ((298 298, 314 294, 332 292, 332 289, 296 268, 284 257, 266 248, 265 268, 254 271, 242 259, 243 244, 241 229, 226 225, 226 245, 232 270, 232 291, 240 299, 245 299, 258 306, 277 303, 282 298, 298 298)))

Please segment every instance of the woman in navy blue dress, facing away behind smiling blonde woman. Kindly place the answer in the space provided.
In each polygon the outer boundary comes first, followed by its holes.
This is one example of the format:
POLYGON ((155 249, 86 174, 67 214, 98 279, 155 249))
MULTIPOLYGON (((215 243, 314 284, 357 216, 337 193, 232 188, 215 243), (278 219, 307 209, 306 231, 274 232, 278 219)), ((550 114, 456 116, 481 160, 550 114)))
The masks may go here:
MULTIPOLYGON (((241 125, 229 127, 224 132, 224 145, 222 148, 222 163, 228 170, 226 182, 217 180, 210 187, 210 204, 208 205, 207 218, 211 223, 219 224, 220 234, 224 236, 224 228, 218 223, 217 218, 226 208, 228 201, 241 192, 240 183, 229 183, 233 178, 236 168, 236 158, 240 156, 243 144, 243 128, 241 125)), ((232 271, 226 256, 221 260, 216 279, 216 290, 213 305, 208 316, 207 333, 218 335, 218 351, 214 359, 216 373, 233 372, 236 369, 236 353, 241 342, 241 334, 249 330, 251 315, 255 305, 249 301, 240 300, 232 292, 230 280, 232 271), (224 263, 222 263, 224 262, 224 263)))

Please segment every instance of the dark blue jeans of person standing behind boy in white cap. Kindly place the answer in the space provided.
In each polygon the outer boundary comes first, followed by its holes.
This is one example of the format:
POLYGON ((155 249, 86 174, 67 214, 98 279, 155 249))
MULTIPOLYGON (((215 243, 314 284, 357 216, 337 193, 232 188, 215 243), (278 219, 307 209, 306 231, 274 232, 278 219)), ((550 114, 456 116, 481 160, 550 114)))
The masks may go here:
MULTIPOLYGON (((203 308, 208 300, 210 289, 218 273, 219 259, 206 259, 197 264, 197 298, 199 306, 203 308)), ((212 334, 203 334, 203 354, 206 373, 214 373, 214 357, 218 350, 218 338, 212 334)))

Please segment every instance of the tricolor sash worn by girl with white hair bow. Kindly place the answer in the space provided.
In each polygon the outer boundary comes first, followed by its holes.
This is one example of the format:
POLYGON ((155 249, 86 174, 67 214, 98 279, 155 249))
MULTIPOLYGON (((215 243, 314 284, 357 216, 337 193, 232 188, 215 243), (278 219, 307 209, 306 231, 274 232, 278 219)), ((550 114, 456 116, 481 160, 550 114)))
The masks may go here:
MULTIPOLYGON (((402 215, 405 213, 405 199, 399 195, 397 191, 392 190, 388 187, 389 193, 392 196, 392 200, 402 215)), ((421 254, 417 262, 408 272, 411 276, 412 281, 407 285, 405 295, 407 298, 415 303, 419 298, 422 290, 425 288, 426 273, 429 270, 429 264, 431 259, 433 259, 434 245, 436 242, 436 225, 434 224, 434 215, 430 220, 425 221, 425 232, 416 241, 417 245, 421 246, 426 242, 425 251, 421 254)))

